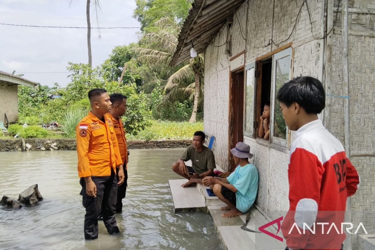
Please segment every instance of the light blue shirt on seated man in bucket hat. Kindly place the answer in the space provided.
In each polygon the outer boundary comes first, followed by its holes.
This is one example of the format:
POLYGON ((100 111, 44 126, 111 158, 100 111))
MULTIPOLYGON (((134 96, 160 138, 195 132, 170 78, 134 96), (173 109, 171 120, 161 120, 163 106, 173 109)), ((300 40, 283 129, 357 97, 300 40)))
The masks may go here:
POLYGON ((245 213, 253 205, 258 192, 258 169, 251 163, 240 166, 226 180, 236 187, 236 208, 245 213))

